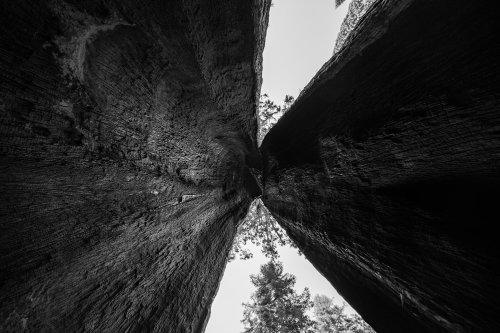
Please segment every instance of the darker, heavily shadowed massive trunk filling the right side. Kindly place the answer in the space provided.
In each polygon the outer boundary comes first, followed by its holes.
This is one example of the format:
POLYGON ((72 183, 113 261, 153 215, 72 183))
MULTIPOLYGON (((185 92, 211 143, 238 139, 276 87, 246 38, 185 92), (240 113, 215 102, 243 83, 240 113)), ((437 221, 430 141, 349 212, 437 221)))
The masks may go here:
POLYGON ((377 332, 498 332, 500 25, 378 1, 264 138, 263 201, 377 332))

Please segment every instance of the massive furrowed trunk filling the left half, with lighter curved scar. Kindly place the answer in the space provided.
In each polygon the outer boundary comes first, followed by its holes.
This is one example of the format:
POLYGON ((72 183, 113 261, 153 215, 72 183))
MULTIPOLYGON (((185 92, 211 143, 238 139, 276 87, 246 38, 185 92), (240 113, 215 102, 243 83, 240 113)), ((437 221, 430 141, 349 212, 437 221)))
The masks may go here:
POLYGON ((2 3, 0 331, 203 331, 260 194, 269 6, 2 3))

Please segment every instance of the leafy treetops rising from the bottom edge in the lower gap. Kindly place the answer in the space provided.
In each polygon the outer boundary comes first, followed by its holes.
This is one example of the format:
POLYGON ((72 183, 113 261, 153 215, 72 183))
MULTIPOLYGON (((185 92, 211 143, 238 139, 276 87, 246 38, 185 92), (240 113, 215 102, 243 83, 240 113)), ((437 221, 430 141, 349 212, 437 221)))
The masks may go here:
POLYGON ((284 273, 283 264, 270 260, 250 275, 256 288, 249 303, 242 303, 243 333, 375 333, 358 315, 346 315, 341 306, 325 295, 314 296, 304 288, 294 289, 295 276, 284 273), (312 308, 314 320, 308 316, 312 308))

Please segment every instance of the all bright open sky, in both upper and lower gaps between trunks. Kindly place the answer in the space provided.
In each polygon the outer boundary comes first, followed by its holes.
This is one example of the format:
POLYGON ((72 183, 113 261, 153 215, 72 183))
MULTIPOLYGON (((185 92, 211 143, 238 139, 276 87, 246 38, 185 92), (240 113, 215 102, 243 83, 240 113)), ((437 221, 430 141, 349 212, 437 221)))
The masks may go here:
MULTIPOLYGON (((348 3, 335 9, 335 0, 273 0, 262 59, 261 93, 267 93, 276 104, 282 104, 286 94, 297 97, 317 70, 331 57, 337 33, 348 3)), ((239 333, 243 314, 242 302, 250 300, 254 291, 250 274, 256 274, 268 260, 256 247, 249 246, 253 258, 236 259, 227 264, 219 290, 211 307, 205 333, 239 333)), ((278 248, 284 272, 295 275, 295 289, 304 287, 310 294, 343 299, 296 250, 278 248)), ((348 307, 347 314, 355 313, 348 307)))

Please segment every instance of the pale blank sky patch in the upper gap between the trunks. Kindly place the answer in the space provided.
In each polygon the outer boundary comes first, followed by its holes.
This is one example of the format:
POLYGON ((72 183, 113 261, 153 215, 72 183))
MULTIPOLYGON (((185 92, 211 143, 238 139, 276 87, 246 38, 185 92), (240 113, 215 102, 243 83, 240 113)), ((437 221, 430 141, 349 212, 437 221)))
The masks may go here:
POLYGON ((262 54, 262 88, 270 100, 297 97, 331 57, 350 1, 273 0, 262 54))

